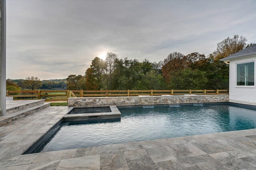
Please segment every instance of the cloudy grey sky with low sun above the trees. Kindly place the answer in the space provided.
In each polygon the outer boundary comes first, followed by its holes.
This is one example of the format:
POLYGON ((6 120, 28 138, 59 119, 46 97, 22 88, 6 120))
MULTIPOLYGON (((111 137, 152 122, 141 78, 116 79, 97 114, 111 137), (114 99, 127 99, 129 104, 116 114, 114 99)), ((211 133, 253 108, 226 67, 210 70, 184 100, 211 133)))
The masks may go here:
POLYGON ((60 79, 107 52, 158 62, 234 35, 256 43, 256 0, 6 0, 6 23, 6 77, 60 79))

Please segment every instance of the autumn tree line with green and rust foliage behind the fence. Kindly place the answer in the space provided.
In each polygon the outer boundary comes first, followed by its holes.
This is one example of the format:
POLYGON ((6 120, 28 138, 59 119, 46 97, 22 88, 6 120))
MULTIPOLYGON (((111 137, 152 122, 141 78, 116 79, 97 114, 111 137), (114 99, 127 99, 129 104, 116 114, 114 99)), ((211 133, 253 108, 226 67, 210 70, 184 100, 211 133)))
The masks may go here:
POLYGON ((95 57, 84 75, 71 74, 62 80, 42 80, 27 77, 25 80, 6 81, 7 90, 53 89, 63 90, 188 90, 222 89, 229 87, 229 66, 219 61, 253 43, 246 44, 243 36, 234 35, 217 44, 216 50, 205 56, 198 52, 184 55, 170 53, 164 61, 119 59, 112 52, 106 59, 95 57))

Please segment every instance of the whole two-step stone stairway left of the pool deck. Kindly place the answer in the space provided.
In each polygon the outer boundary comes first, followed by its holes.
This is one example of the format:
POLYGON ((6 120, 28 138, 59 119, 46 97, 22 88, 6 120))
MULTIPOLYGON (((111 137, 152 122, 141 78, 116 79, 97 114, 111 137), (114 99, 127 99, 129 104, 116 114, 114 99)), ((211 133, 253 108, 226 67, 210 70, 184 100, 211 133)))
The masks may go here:
POLYGON ((50 103, 44 103, 44 100, 6 101, 6 116, 0 117, 0 126, 35 113, 48 106, 50 106, 50 103))

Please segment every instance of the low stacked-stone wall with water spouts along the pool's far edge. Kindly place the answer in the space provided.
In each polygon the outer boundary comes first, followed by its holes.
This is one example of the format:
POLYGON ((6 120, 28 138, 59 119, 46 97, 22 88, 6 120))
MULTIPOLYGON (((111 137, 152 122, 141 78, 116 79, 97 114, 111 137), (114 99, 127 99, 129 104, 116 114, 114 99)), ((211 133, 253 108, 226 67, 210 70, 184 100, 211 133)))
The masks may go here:
POLYGON ((227 102, 228 95, 68 98, 69 107, 227 102))

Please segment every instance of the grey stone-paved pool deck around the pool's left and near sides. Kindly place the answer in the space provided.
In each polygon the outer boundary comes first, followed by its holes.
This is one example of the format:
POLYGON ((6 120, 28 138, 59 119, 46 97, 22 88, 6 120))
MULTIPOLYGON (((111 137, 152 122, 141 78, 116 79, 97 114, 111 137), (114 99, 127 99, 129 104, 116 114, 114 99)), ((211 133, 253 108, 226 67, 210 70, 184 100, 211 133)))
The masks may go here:
POLYGON ((256 129, 22 155, 67 112, 51 106, 0 127, 0 170, 256 169, 256 129))

